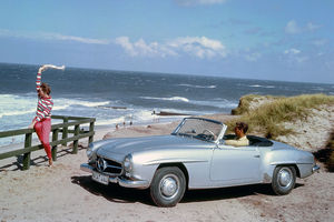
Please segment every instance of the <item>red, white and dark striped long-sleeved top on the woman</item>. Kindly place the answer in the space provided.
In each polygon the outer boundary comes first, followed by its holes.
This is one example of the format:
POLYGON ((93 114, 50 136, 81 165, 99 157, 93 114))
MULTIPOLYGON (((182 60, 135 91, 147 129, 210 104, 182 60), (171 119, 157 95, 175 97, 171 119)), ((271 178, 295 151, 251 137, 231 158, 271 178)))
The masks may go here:
MULTIPOLYGON (((41 73, 37 73, 36 90, 39 91, 41 85, 41 73)), ((38 95, 36 120, 38 122, 45 119, 51 119, 51 110, 53 107, 52 98, 41 98, 38 95)))

